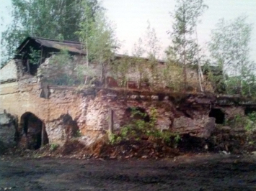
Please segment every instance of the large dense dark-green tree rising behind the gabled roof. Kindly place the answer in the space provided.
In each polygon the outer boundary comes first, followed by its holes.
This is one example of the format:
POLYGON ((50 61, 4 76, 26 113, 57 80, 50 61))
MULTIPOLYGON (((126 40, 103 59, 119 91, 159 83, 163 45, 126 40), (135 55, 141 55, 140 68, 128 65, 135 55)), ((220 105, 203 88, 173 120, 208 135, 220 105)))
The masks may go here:
MULTIPOLYGON (((97 0, 91 0, 88 6, 92 17, 97 0)), ((17 46, 27 36, 49 39, 78 41, 76 31, 84 9, 81 0, 12 0, 12 23, 2 34, 4 61, 15 53, 17 46)))

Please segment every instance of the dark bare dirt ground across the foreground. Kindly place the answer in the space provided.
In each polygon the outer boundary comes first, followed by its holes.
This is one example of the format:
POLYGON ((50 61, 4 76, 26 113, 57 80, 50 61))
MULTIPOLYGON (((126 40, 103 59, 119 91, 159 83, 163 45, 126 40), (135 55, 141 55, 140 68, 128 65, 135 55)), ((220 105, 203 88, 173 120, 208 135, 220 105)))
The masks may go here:
POLYGON ((256 157, 0 160, 0 190, 256 190, 256 157))

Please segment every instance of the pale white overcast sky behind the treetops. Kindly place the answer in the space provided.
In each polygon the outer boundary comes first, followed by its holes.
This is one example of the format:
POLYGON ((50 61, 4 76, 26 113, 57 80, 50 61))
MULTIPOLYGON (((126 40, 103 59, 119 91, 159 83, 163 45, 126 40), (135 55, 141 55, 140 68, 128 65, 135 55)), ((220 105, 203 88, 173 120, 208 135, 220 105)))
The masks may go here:
MULTIPOLYGON (((122 51, 131 51, 133 44, 142 37, 147 27, 147 20, 166 48, 170 39, 167 31, 172 29, 172 19, 169 12, 175 8, 174 0, 103 0, 107 9, 107 17, 115 23, 118 39, 123 41, 122 51)), ((198 25, 198 39, 200 45, 210 40, 211 29, 214 29, 219 19, 234 19, 246 14, 247 21, 253 25, 251 40, 251 55, 256 62, 256 0, 205 0, 209 6, 201 17, 198 25)), ((0 31, 6 29, 11 22, 9 11, 11 0, 0 0, 0 31)))

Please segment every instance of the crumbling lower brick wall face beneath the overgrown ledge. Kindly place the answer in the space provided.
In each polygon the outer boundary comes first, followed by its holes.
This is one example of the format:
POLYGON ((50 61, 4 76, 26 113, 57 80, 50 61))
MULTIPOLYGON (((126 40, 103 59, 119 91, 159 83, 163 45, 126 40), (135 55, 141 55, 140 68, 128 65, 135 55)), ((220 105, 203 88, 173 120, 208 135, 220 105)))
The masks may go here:
MULTIPOLYGON (((26 113, 43 121, 49 143, 63 144, 79 131, 85 143, 92 143, 110 128, 113 131, 128 121, 129 108, 141 108, 150 117, 156 110, 156 128, 179 134, 205 137, 215 128, 215 118, 209 117, 214 98, 206 95, 174 95, 124 89, 97 89, 48 86, 36 78, 0 85, 0 111, 17 116, 19 133, 25 126, 26 113), (49 96, 42 97, 47 88, 49 96)), ((243 107, 219 106, 231 117, 244 114, 243 107)))

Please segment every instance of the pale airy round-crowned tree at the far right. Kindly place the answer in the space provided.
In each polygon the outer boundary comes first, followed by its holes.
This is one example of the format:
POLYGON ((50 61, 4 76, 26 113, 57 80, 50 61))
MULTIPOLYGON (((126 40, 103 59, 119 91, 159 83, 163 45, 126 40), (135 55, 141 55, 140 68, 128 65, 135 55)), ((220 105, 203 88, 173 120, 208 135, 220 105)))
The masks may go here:
POLYGON ((252 26, 246 22, 246 17, 238 17, 230 22, 221 19, 211 33, 211 42, 208 43, 211 62, 221 68, 228 93, 242 93, 244 83, 249 83, 249 76, 252 76, 251 32, 252 26), (233 91, 234 87, 237 90, 233 91))

